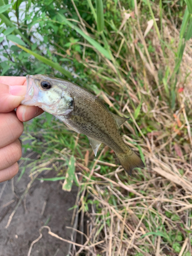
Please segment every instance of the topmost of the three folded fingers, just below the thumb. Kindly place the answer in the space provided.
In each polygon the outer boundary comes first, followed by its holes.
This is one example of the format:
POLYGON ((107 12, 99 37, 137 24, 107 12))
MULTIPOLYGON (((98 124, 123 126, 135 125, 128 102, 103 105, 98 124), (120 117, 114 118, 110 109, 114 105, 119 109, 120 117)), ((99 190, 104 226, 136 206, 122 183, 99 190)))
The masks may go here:
POLYGON ((24 125, 18 120, 16 113, 0 113, 1 132, 0 148, 13 143, 24 131, 24 125))

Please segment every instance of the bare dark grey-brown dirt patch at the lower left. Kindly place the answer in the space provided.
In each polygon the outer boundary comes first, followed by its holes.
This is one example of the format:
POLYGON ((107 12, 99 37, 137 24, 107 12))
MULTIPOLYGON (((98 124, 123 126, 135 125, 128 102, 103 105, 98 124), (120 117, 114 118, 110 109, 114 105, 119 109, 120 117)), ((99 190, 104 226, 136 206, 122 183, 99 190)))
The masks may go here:
MULTIPOLYGON (((75 205, 77 187, 71 192, 61 190, 58 181, 40 182, 35 180, 29 192, 20 203, 8 228, 5 228, 10 215, 17 205, 30 181, 29 169, 26 169, 22 179, 16 184, 19 173, 14 181, 0 183, 0 255, 28 256, 31 243, 39 237, 39 228, 47 222, 51 231, 63 239, 71 240, 71 226, 75 205), (14 185, 14 186, 13 186, 14 185), (14 189, 13 189, 14 187, 14 189)), ((46 176, 55 177, 54 171, 46 176)), ((48 229, 42 230, 42 238, 36 242, 30 256, 66 256, 69 244, 48 234, 48 229)))

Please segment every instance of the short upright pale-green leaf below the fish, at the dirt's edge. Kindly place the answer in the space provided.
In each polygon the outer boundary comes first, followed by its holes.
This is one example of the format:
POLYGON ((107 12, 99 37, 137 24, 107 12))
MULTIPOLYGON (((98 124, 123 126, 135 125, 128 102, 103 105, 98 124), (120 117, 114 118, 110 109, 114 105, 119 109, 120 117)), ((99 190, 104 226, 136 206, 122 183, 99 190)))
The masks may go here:
POLYGON ((69 161, 69 167, 66 173, 66 180, 64 181, 62 185, 62 189, 65 191, 71 191, 72 185, 73 185, 73 178, 75 173, 75 158, 74 156, 71 156, 69 161))

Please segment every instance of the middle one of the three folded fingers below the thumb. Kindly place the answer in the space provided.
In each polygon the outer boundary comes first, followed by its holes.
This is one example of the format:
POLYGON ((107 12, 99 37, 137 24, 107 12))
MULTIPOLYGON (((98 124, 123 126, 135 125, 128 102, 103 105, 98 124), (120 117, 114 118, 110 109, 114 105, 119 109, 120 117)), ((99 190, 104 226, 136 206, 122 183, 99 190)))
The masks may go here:
POLYGON ((6 169, 22 157, 22 146, 17 139, 13 143, 0 148, 0 170, 6 169))

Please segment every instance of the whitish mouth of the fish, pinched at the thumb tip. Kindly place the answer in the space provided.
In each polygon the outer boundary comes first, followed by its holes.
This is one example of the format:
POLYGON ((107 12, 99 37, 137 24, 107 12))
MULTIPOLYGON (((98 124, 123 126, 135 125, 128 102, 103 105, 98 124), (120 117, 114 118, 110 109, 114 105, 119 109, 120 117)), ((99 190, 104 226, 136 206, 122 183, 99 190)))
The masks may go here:
POLYGON ((34 106, 37 105, 37 96, 39 89, 35 85, 33 75, 27 75, 27 92, 25 98, 20 102, 22 105, 34 106))

